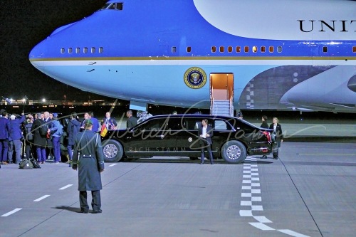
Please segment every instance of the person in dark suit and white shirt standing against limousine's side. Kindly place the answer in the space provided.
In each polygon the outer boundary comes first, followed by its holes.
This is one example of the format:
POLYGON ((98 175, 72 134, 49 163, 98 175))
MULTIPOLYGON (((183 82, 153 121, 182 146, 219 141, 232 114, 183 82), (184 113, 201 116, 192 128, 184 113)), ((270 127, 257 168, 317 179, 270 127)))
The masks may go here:
POLYGON ((211 152, 211 144, 213 141, 211 137, 213 137, 213 128, 208 125, 208 120, 204 119, 201 121, 201 126, 198 129, 198 135, 200 137, 199 144, 201 145, 201 162, 200 164, 204 164, 204 149, 209 152, 210 164, 214 164, 213 162, 213 153, 211 152))

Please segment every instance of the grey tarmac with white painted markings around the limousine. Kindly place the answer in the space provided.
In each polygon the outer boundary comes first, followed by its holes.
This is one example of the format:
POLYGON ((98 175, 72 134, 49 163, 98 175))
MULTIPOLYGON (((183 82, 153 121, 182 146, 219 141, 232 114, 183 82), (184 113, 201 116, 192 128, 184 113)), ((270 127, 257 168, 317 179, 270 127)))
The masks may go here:
POLYGON ((355 236, 355 126, 281 125, 280 159, 105 163, 102 214, 77 213, 68 164, 1 165, 0 236, 355 236))

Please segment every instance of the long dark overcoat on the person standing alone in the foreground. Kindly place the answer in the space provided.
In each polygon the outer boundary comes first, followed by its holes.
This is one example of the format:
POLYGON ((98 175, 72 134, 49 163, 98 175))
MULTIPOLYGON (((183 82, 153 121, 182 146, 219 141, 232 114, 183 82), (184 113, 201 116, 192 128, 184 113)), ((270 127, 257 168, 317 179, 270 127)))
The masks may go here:
POLYGON ((78 168, 78 191, 103 189, 100 170, 104 169, 104 154, 98 133, 84 130, 75 135, 72 167, 78 168))

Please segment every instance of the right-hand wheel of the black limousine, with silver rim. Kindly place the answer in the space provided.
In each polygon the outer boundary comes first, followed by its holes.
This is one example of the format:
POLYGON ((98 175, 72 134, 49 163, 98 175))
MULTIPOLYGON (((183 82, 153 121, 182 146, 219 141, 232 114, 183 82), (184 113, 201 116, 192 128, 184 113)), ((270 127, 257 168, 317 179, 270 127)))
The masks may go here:
POLYGON ((246 147, 239 141, 229 141, 221 147, 221 157, 229 164, 244 162, 246 154, 246 147))

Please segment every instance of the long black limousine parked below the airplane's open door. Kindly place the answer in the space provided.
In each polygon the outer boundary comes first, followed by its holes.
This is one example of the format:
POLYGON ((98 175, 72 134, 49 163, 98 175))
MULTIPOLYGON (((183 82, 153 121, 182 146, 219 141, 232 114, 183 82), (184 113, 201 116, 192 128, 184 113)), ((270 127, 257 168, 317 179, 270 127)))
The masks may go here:
POLYGON ((105 162, 154 156, 197 159, 201 154, 198 127, 204 118, 214 130, 211 146, 214 159, 237 164, 248 155, 271 154, 277 149, 270 130, 237 117, 158 115, 129 130, 109 130, 102 137, 105 162))

